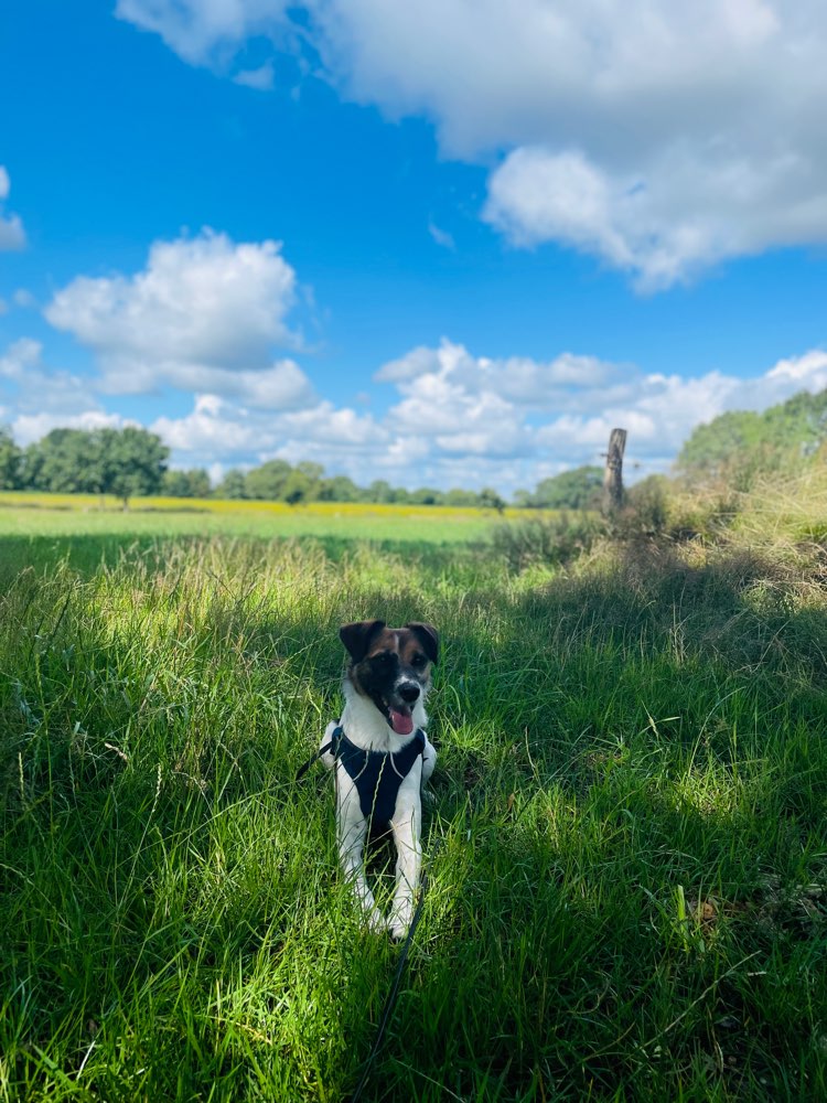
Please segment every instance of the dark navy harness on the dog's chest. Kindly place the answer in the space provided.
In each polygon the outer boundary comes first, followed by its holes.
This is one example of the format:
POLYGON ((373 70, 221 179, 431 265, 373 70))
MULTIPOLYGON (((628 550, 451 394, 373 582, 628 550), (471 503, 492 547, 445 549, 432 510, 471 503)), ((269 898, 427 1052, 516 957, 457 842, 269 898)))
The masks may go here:
POLYGON ((330 742, 304 763, 296 780, 327 751, 333 751, 333 758, 342 763, 356 786, 362 815, 370 821, 374 831, 386 829, 394 818, 399 786, 425 753, 425 732, 417 728, 410 742, 398 751, 366 751, 351 742, 340 725, 330 742))

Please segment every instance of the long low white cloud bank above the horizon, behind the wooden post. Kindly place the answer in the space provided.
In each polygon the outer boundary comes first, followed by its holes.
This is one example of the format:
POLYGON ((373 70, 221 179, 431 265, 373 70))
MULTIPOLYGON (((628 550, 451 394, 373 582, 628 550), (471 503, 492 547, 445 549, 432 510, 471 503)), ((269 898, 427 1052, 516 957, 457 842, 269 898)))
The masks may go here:
POLYGON ((152 426, 183 465, 315 460, 357 482, 408 486, 495 485, 513 491, 580 463, 600 462, 610 430, 629 430, 638 474, 665 470, 696 425, 728 409, 762 409, 827 386, 827 353, 812 351, 742 379, 695 378, 562 354, 474 356, 443 341, 378 370, 396 399, 382 417, 319 401, 264 415, 203 395, 185 417, 152 426))

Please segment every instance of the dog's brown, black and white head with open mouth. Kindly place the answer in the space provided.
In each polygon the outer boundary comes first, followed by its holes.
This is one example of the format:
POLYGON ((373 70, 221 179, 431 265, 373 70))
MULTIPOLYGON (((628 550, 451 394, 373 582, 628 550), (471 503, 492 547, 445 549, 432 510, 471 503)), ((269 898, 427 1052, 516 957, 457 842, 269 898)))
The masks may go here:
POLYGON ((431 685, 439 654, 437 630, 420 621, 405 628, 355 621, 343 624, 339 638, 351 656, 347 676, 353 688, 374 703, 397 735, 410 735, 412 711, 431 685))

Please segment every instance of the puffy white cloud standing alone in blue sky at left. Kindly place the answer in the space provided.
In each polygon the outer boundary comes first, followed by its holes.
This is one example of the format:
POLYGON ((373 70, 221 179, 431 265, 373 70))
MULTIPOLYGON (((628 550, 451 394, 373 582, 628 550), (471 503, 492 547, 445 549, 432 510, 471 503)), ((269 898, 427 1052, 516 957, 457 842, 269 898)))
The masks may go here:
POLYGON ((272 361, 273 346, 297 344, 286 323, 294 295, 276 242, 237 245, 205 231, 157 242, 135 276, 78 277, 44 313, 95 353, 105 393, 173 387, 290 409, 313 398, 293 361, 272 361))

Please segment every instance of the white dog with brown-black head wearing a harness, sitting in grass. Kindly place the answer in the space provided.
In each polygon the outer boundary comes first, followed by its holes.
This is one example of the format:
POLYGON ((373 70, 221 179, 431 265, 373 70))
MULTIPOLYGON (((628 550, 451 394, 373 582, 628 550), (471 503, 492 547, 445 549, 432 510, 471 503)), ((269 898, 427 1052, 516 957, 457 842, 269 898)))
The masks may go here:
POLYGON ((422 866, 421 792, 437 762, 425 733, 425 699, 439 636, 420 621, 388 628, 374 620, 343 624, 339 638, 348 655, 345 707, 339 724, 327 725, 320 757, 334 772, 340 861, 369 927, 398 941, 414 915, 422 866), (397 860, 386 920, 367 885, 365 845, 368 835, 388 829, 397 860))

